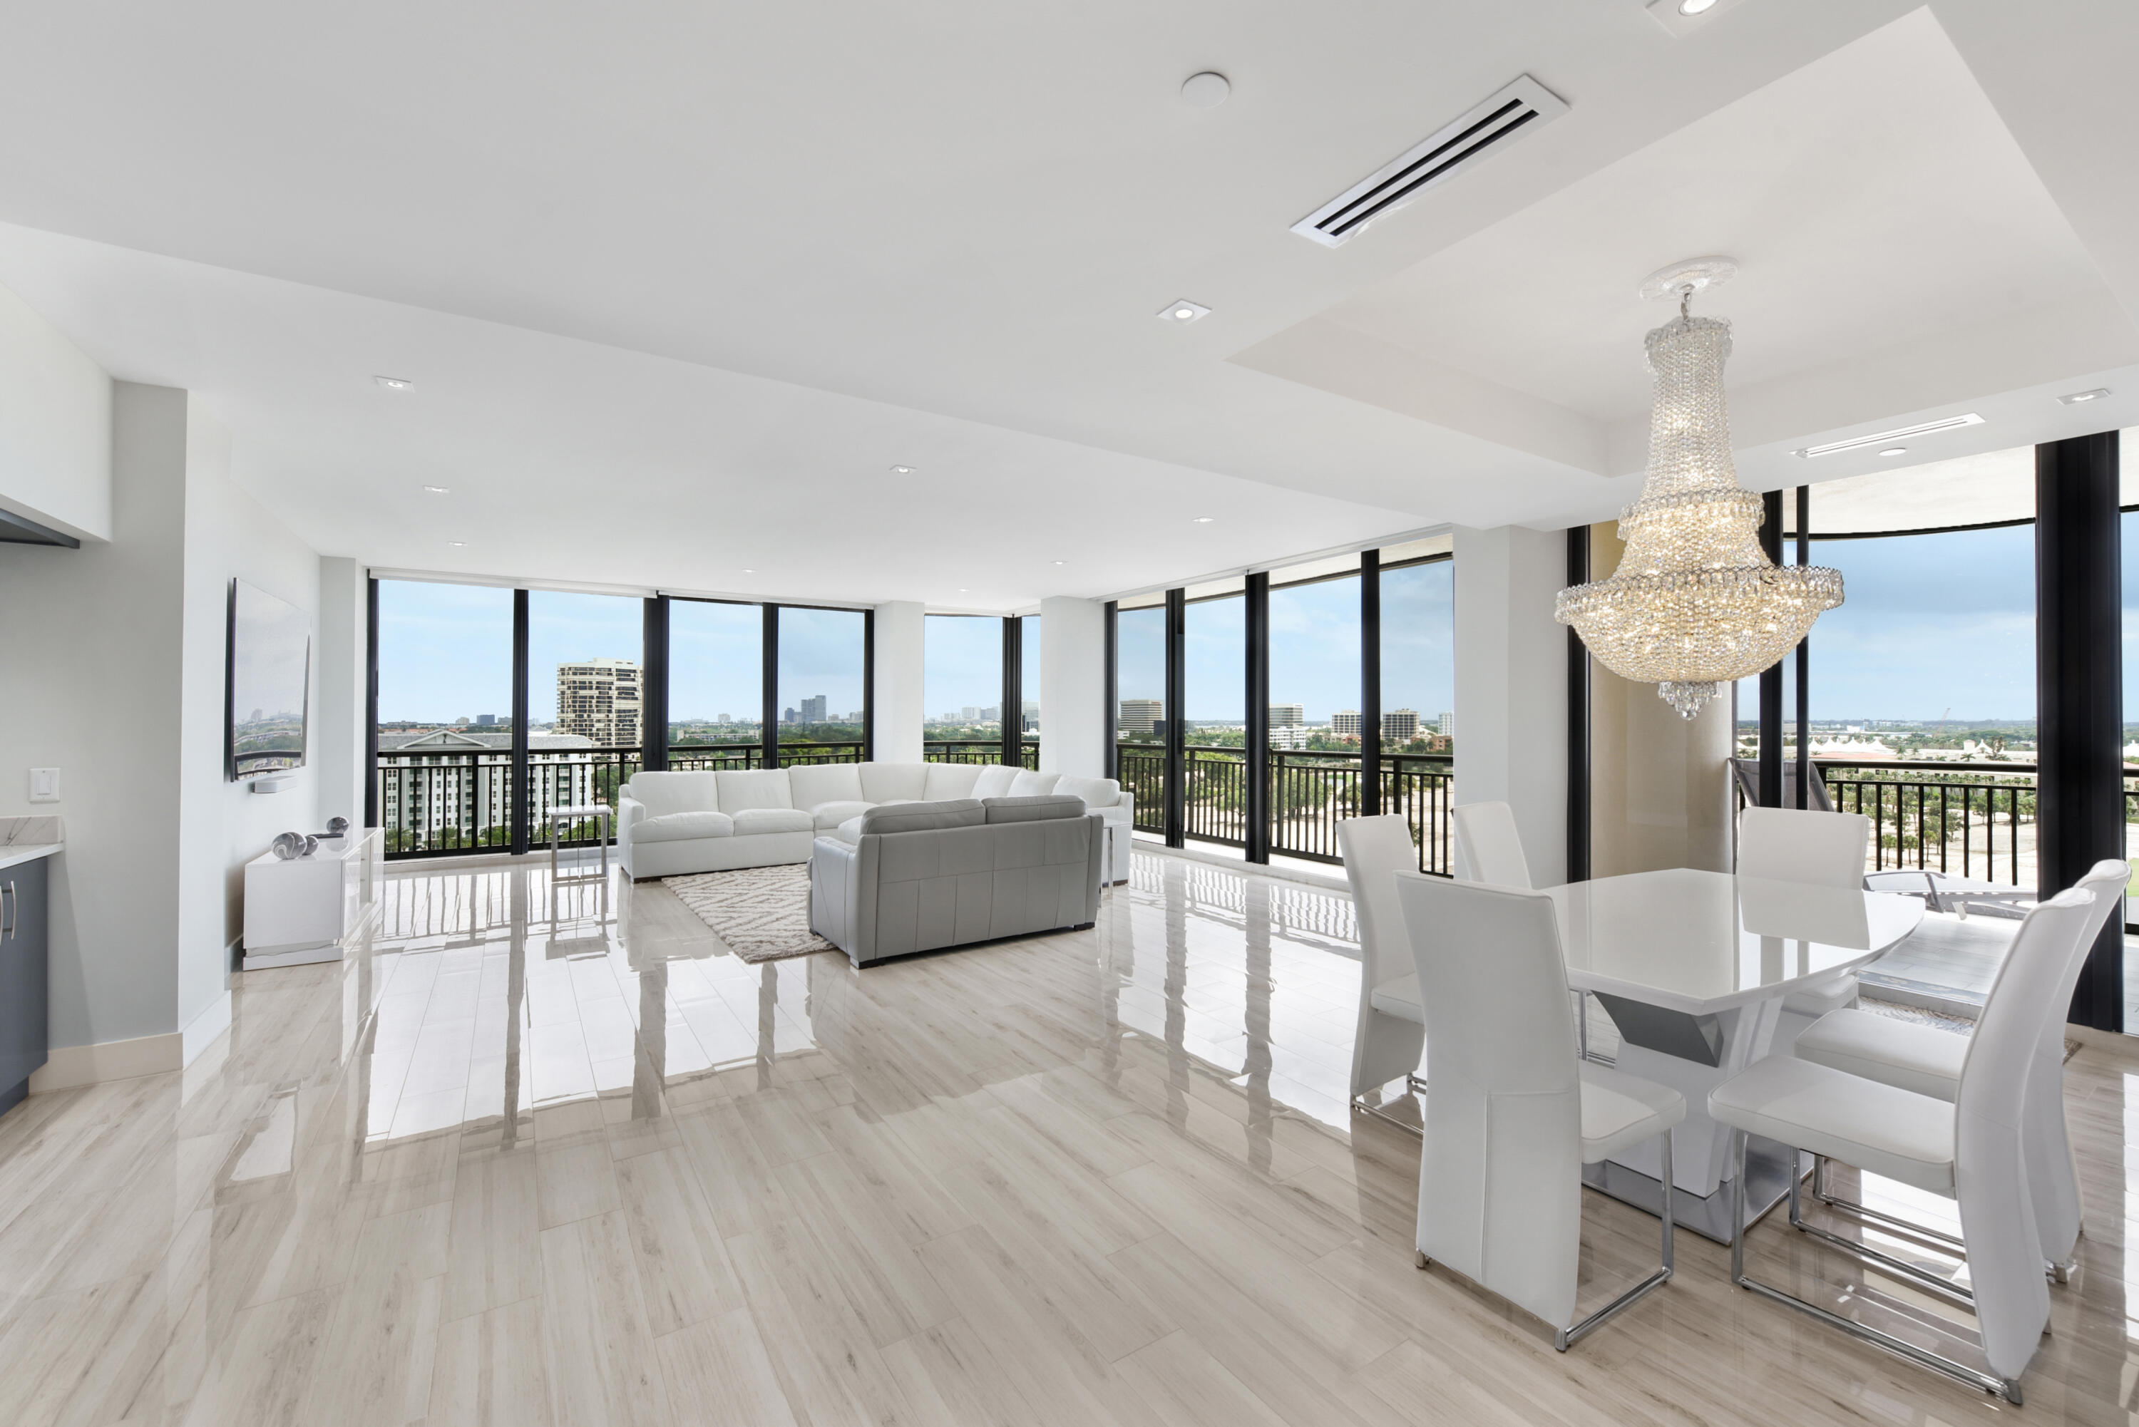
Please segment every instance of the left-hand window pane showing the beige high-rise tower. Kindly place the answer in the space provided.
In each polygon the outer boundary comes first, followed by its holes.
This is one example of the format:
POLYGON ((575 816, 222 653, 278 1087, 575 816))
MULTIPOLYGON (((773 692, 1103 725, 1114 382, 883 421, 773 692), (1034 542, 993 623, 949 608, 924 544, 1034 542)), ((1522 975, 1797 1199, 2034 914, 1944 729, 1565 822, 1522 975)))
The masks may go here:
MULTIPOLYGON (((646 730, 642 676, 646 601, 629 595, 528 590, 528 807, 533 837, 550 809, 616 804, 637 772, 646 730)), ((595 837, 595 822, 567 841, 595 837)))

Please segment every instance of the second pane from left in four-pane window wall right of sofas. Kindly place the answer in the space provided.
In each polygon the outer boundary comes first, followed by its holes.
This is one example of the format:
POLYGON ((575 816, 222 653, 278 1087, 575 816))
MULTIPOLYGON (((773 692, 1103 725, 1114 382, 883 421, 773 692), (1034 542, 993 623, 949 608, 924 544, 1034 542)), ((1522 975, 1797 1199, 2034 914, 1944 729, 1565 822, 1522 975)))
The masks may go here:
POLYGON ((1185 832, 1247 841, 1247 599, 1245 580, 1194 586, 1183 623, 1181 710, 1187 757, 1185 832))

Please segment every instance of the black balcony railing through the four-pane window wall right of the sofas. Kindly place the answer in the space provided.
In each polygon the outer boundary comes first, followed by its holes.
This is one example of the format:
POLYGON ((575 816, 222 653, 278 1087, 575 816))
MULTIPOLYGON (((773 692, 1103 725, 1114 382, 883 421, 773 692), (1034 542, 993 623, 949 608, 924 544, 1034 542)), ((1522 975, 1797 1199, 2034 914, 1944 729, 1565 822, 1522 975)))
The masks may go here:
MULTIPOLYGON (((1153 742, 1117 745, 1121 785, 1136 794, 1136 830, 1166 832, 1166 751, 1153 742)), ((1206 843, 1247 843, 1247 749, 1189 745, 1183 751, 1185 832, 1206 843)), ((1309 862, 1343 862, 1337 824, 1360 815, 1358 753, 1271 749, 1271 851, 1309 862)), ((1450 875, 1455 759, 1382 755, 1382 811, 1412 824, 1418 871, 1450 875)))

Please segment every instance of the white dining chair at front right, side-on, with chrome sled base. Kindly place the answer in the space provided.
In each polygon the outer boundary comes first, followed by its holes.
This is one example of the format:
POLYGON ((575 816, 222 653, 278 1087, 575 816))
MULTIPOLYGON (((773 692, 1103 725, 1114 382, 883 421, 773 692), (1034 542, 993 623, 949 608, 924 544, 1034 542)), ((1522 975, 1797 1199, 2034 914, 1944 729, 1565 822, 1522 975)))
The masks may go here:
POLYGON ((2049 1326, 2049 1288, 2028 1196, 2028 1078, 2058 978, 2096 896, 2081 888, 2041 903, 2021 922, 1968 1040, 1953 1102, 1771 1055, 1709 1091, 1709 1115, 1730 1125, 1730 1222, 1745 1222, 1745 1138, 1790 1147, 1790 1226, 1852 1258, 1976 1311, 1991 1371, 1807 1303, 1745 1275, 1745 1232, 1730 1245, 1730 1282, 2019 1406, 2019 1376, 2049 1326), (1957 1200, 1970 1286, 1803 1222, 1797 1153, 1812 1151, 1957 1200))

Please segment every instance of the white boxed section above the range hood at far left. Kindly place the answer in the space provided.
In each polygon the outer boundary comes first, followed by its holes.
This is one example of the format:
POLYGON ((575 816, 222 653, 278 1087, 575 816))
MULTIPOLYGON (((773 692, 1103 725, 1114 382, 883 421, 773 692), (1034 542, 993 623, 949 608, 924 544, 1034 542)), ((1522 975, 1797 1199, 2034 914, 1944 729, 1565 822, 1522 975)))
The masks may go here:
POLYGON ((0 507, 111 539, 111 379, 4 287, 0 507))

